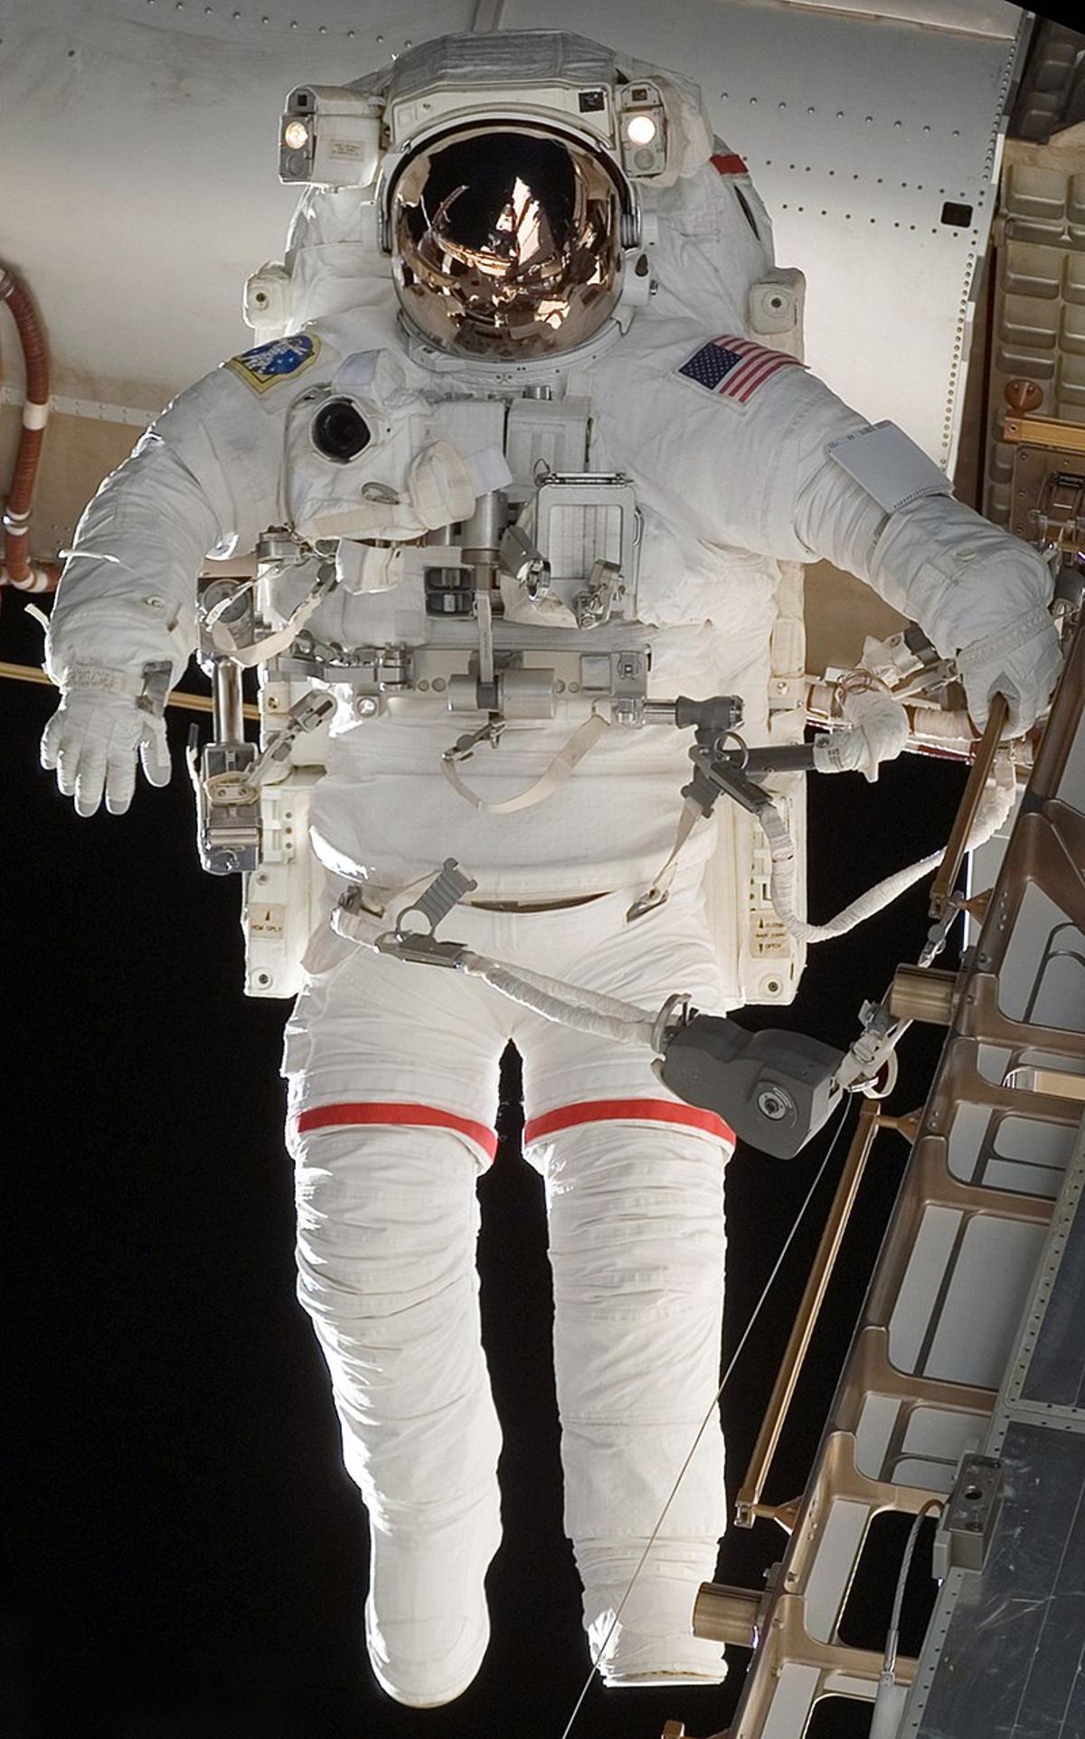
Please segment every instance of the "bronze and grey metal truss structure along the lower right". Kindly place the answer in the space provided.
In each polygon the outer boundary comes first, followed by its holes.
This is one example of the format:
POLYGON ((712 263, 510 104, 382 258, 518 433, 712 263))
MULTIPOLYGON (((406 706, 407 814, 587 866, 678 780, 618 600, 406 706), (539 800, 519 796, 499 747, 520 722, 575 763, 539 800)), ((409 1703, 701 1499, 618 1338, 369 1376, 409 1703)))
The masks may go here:
POLYGON ((795 1504, 758 1501, 770 1412, 739 1520, 774 1516, 788 1549, 765 1595, 706 1586, 694 1621, 755 1645, 730 1739, 802 1739, 822 1699, 873 1702, 885 1662, 840 1640, 849 1593, 876 1518, 934 1506, 941 1596, 890 1730, 1085 1730, 1083 715, 1078 633, 979 943, 922 995, 899 977, 899 1012, 948 1036, 922 1113, 864 1106, 777 1384, 786 1402, 880 1127, 915 1136, 815 1466, 795 1504))

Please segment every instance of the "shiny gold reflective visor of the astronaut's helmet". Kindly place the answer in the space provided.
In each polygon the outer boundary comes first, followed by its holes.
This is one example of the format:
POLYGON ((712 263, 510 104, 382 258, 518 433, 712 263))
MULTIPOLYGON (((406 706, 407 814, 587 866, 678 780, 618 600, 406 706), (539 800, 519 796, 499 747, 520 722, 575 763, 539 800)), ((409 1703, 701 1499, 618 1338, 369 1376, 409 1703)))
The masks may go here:
POLYGON ((456 356, 576 350, 621 297, 621 195, 586 146, 530 127, 457 132, 410 158, 391 195, 407 320, 456 356))

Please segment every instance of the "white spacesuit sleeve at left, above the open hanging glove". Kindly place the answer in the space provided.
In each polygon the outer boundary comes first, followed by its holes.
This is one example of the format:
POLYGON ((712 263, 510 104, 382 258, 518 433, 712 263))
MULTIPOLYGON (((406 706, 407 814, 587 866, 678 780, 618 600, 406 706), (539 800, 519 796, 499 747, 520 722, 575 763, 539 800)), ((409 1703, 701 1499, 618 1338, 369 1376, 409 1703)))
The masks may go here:
MULTIPOLYGON (((289 398, 292 400, 292 393, 289 398)), ((45 666, 137 676, 170 661, 176 682, 196 645, 203 556, 249 550, 282 522, 287 395, 263 402, 230 365, 181 393, 78 522, 52 609, 45 666)))

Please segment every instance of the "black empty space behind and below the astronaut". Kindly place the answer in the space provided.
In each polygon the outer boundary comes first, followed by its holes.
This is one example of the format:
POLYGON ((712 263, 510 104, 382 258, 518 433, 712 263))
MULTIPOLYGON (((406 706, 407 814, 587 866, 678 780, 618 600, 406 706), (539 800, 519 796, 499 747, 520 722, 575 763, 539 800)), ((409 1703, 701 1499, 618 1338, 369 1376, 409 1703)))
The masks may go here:
MULTIPOLYGON (((0 656, 38 661, 38 628, 10 593, 3 605, 0 656)), ((560 1739, 588 1662, 560 1522, 546 1228, 539 1181, 518 1156, 515 1069, 506 1141, 482 1183, 485 1343, 506 1435, 494 1642, 457 1704, 407 1711, 369 1676, 363 1513, 294 1301, 276 1076, 285 1005, 242 996, 238 887, 196 866, 177 770, 188 718, 172 715, 167 791, 141 784, 127 817, 80 821, 37 767, 52 704, 47 689, 0 682, 0 1734, 560 1739)), ((812 793, 812 913, 828 916, 937 847, 962 779, 953 765, 908 758, 876 786, 822 781, 812 793)), ((815 951, 795 1009, 765 1010, 762 1024, 847 1043, 859 1002, 882 991, 895 960, 915 958, 923 929, 920 892, 815 951)), ((935 1031, 913 1029, 897 1109, 922 1101, 935 1056, 935 1031)), ((729 1346, 819 1151, 789 1165, 732 1160, 729 1346)), ((769 1497, 796 1496, 805 1482, 902 1158, 902 1143, 882 1137, 769 1497)), ((826 1181, 725 1398, 732 1487, 829 1193, 826 1181)), ((758 1586, 782 1539, 767 1522, 732 1534, 722 1576, 758 1586)), ((868 1645, 883 1642, 890 1596, 883 1577, 862 1602, 868 1645)), ((596 1683, 576 1734, 656 1739, 666 1718, 718 1732, 744 1661, 732 1659, 722 1690, 596 1683)))

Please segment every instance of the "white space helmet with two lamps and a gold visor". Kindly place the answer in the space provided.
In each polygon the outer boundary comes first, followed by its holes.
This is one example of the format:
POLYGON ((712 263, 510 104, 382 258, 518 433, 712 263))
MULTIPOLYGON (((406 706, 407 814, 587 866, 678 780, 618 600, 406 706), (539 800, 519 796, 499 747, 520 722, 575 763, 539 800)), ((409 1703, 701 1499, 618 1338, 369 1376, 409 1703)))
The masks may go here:
POLYGON ((642 190, 709 155, 689 80, 529 30, 438 37, 355 85, 299 87, 280 176, 369 186, 409 329, 508 363, 569 355, 643 303, 642 190))

